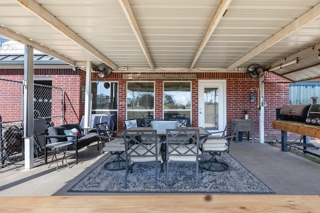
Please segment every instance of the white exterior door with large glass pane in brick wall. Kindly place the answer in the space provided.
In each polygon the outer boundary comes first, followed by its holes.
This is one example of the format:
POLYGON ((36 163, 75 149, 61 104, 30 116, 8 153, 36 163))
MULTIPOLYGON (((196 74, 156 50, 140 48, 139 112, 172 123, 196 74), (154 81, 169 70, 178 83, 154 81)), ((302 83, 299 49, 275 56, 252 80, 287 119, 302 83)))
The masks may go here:
POLYGON ((209 132, 223 131, 226 124, 225 80, 199 80, 198 124, 209 132))

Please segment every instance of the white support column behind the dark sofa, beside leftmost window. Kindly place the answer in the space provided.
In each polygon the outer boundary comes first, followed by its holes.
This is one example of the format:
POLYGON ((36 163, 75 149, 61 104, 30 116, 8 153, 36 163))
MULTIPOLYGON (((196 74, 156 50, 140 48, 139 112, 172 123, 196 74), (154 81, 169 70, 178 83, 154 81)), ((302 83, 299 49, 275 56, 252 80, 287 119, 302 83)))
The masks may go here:
POLYGON ((87 61, 85 70, 84 128, 88 128, 91 121, 91 69, 91 62, 87 61))

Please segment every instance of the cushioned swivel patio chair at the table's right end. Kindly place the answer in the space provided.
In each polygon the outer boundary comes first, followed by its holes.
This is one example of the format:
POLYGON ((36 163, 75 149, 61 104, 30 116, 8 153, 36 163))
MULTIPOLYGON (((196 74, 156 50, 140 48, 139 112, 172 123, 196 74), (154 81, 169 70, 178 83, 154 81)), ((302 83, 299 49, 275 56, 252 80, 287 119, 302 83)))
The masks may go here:
POLYGON ((229 169, 229 166, 224 162, 220 162, 217 156, 220 156, 221 153, 229 154, 230 143, 235 137, 234 132, 236 126, 236 123, 227 122, 223 131, 215 132, 222 133, 222 136, 211 135, 204 138, 200 149, 202 153, 209 153, 211 158, 207 161, 200 162, 201 171, 204 169, 211 172, 223 172, 229 169))

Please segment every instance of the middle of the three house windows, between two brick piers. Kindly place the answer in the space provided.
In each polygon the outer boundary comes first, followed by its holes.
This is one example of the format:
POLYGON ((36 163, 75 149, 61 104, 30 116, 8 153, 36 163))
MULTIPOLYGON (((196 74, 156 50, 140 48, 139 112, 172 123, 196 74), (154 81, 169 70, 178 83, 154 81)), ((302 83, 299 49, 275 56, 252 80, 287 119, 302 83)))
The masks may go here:
POLYGON ((127 119, 153 118, 154 82, 127 82, 127 119))

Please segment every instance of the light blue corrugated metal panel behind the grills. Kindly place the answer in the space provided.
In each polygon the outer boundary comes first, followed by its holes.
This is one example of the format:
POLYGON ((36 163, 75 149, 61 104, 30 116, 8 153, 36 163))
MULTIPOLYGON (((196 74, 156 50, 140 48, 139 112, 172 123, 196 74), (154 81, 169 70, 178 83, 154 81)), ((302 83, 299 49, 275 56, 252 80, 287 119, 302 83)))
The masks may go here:
MULTIPOLYGON (((312 104, 311 97, 320 98, 320 82, 303 82, 289 85, 290 104, 312 104)), ((319 100, 317 100, 319 103, 319 100)))

